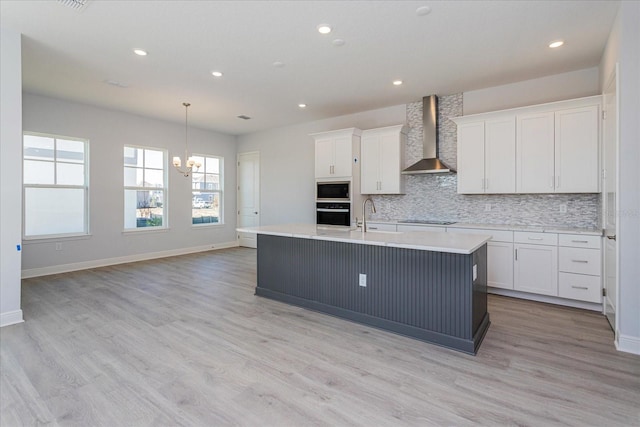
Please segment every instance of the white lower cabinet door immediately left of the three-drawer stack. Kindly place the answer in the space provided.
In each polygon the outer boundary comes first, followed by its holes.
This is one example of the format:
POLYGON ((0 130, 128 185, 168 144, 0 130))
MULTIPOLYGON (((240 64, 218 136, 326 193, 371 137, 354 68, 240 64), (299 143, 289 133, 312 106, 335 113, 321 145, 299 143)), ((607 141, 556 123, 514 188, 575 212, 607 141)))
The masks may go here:
POLYGON ((557 246, 515 244, 516 291, 558 296, 557 246))

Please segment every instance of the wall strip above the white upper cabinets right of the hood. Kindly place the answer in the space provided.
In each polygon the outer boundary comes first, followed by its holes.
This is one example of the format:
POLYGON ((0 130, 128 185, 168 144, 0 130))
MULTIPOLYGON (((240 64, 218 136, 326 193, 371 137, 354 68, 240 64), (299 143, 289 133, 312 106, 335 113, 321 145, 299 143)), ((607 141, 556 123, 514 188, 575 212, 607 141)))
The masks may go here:
POLYGON ((598 67, 464 93, 464 115, 599 95, 598 67))

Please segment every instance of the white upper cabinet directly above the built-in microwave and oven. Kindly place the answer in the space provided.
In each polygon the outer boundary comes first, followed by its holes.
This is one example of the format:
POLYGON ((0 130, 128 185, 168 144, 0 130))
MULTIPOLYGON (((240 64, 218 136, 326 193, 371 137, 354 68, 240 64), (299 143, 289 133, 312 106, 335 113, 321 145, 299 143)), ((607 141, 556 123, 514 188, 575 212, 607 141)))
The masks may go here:
POLYGON ((315 140, 316 178, 349 178, 353 176, 354 159, 360 150, 360 134, 356 128, 311 134, 315 140))

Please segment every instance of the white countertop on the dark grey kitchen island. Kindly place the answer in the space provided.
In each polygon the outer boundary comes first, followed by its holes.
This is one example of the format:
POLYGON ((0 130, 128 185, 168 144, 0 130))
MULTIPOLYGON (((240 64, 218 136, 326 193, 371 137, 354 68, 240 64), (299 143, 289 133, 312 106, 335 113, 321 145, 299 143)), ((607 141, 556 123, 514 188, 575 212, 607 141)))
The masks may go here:
POLYGON ((471 254, 487 241, 490 235, 439 233, 433 231, 395 232, 367 231, 317 227, 315 224, 283 224, 238 228, 241 233, 330 240, 333 242, 388 246, 423 251, 471 254))

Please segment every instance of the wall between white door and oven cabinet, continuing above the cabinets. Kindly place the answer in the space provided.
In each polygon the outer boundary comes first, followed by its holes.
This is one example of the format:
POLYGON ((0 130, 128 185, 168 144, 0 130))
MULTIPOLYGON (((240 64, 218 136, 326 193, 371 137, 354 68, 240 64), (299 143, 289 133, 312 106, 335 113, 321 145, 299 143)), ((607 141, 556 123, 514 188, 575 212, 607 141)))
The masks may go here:
POLYGON ((310 133, 405 122, 405 105, 398 105, 239 136, 239 153, 260 151, 261 225, 315 223, 315 152, 310 133))

